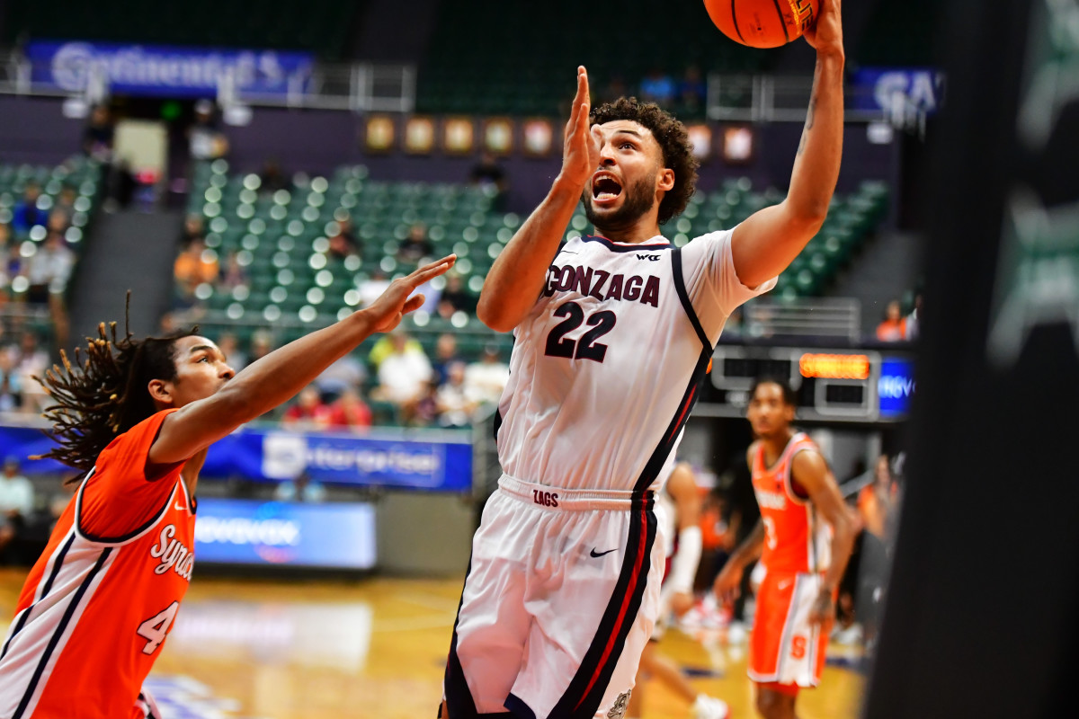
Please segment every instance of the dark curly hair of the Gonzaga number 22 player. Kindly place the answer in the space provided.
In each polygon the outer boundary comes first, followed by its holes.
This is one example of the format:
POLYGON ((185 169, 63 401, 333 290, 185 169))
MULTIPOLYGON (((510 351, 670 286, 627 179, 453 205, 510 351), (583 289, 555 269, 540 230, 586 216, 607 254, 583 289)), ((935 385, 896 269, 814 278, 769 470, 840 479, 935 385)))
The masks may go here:
POLYGON ((697 167, 700 166, 693 156, 685 125, 655 102, 642 102, 636 97, 619 97, 614 102, 604 102, 592 108, 589 117, 592 124, 600 125, 615 120, 631 120, 652 132, 664 151, 664 167, 674 170, 674 186, 659 203, 659 224, 681 215, 697 190, 697 167))

